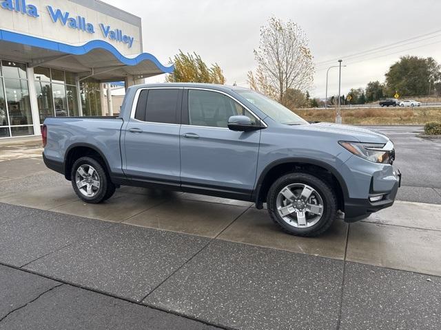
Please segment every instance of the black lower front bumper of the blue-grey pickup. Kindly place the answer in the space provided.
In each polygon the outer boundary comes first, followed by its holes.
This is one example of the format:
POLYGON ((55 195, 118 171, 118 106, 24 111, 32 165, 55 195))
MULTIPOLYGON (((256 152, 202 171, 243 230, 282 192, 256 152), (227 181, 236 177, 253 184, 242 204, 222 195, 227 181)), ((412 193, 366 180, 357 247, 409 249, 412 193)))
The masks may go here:
MULTIPOLYGON (((349 198, 345 200, 345 221, 355 222, 360 221, 369 217, 373 212, 382 210, 383 208, 389 208, 392 206, 393 201, 398 192, 398 188, 401 186, 401 173, 400 170, 394 170, 394 175, 396 177, 396 182, 393 184, 391 190, 386 192, 381 192, 383 198, 380 201, 370 201, 368 199, 356 199, 349 198)), ((372 178, 373 180, 373 178, 372 178)), ((371 187, 373 184, 371 184, 371 187)), ((378 192, 371 192, 369 197, 379 195, 378 192)))

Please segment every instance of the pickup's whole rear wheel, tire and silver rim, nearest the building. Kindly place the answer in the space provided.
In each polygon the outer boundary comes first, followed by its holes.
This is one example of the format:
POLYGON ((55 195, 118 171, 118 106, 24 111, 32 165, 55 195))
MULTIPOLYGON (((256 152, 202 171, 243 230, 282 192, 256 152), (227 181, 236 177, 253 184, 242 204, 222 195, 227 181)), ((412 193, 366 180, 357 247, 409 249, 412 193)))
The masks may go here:
POLYGON ((92 157, 76 159, 71 178, 76 195, 87 203, 101 203, 115 192, 115 186, 103 166, 92 157))

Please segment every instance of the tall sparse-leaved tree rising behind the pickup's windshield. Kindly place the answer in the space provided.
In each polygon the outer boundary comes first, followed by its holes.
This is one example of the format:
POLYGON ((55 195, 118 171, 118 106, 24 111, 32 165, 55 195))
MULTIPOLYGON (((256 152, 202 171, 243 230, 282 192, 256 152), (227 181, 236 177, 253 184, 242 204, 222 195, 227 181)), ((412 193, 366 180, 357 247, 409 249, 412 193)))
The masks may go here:
POLYGON ((254 50, 256 74, 248 72, 252 89, 285 104, 285 91, 305 92, 314 80, 314 63, 305 32, 294 22, 271 17, 260 28, 260 43, 254 50))

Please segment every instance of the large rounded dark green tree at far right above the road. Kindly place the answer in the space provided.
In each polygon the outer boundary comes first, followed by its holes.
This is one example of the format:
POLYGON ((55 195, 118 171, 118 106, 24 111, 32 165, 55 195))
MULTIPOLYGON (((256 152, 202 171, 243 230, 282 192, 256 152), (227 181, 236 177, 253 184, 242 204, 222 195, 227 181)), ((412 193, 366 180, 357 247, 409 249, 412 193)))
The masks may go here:
POLYGON ((402 56, 385 76, 389 96, 396 91, 401 96, 428 95, 440 80, 440 65, 431 57, 402 56))

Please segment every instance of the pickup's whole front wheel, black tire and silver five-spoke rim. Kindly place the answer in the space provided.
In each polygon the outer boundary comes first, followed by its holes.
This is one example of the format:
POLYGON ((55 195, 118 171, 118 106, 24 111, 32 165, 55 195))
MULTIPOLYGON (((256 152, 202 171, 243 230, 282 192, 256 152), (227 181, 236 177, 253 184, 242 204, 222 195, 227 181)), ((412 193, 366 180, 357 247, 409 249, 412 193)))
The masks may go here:
POLYGON ((325 181, 308 173, 277 179, 269 188, 267 206, 274 223, 297 236, 318 236, 337 217, 334 192, 325 181))

